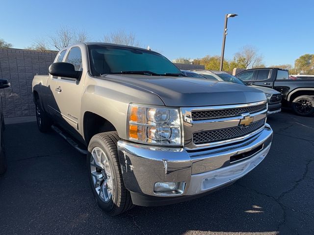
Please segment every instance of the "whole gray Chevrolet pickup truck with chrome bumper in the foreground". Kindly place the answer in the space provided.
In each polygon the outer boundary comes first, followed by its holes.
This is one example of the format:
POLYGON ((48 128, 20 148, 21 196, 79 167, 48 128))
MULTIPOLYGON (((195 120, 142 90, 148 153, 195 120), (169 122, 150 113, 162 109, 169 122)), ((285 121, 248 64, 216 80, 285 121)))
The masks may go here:
POLYGON ((186 77, 157 52, 80 43, 49 73, 32 82, 38 128, 87 147, 92 192, 110 215, 230 185, 270 149, 262 91, 186 77))

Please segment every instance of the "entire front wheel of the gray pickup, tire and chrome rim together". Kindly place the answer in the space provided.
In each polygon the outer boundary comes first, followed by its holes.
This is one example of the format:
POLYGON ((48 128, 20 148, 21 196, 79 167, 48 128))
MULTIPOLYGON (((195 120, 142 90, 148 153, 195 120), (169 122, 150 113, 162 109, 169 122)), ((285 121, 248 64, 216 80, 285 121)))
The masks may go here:
POLYGON ((100 133, 88 145, 87 168, 92 192, 99 207, 110 215, 132 208, 130 192, 124 187, 117 132, 100 133))

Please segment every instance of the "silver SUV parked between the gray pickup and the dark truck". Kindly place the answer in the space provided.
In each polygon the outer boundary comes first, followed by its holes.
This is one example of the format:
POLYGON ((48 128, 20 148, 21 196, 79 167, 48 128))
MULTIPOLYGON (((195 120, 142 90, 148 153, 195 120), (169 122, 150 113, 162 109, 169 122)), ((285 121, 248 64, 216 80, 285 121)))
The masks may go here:
MULTIPOLYGON (((189 73, 196 72, 199 75, 206 77, 207 79, 211 79, 211 80, 232 82, 232 83, 247 86, 247 84, 244 83, 239 78, 224 71, 193 70, 193 71, 188 71, 188 72, 189 73)), ((268 115, 281 112, 282 94, 280 92, 274 89, 268 88, 268 87, 260 87, 260 86, 254 86, 254 85, 250 85, 250 87, 254 87, 265 93, 266 98, 267 98, 267 103, 268 103, 268 115)))

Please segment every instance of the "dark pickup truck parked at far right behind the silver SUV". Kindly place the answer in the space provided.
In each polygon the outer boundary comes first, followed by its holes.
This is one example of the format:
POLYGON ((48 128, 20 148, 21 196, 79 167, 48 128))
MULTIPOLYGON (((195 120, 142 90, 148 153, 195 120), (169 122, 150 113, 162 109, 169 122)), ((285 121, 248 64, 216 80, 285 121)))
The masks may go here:
POLYGON ((300 116, 314 114, 314 79, 289 79, 288 70, 260 68, 236 74, 247 84, 270 87, 282 94, 282 106, 291 107, 300 116))

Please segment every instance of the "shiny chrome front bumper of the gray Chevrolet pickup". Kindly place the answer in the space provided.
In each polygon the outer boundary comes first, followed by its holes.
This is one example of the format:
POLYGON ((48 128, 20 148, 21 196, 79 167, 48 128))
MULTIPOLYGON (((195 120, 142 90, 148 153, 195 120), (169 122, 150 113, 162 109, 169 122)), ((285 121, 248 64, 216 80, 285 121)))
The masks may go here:
POLYGON ((270 149, 272 136, 272 129, 266 124, 260 133, 248 140, 197 151, 119 141, 125 187, 133 193, 163 198, 202 194, 223 187, 262 162, 270 149), (254 149, 258 151, 230 162, 231 157, 254 149), (185 188, 180 195, 160 195, 154 192, 156 182, 184 182, 185 188))

